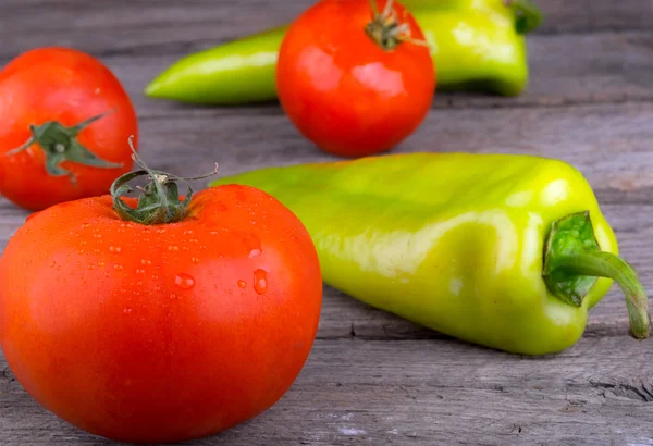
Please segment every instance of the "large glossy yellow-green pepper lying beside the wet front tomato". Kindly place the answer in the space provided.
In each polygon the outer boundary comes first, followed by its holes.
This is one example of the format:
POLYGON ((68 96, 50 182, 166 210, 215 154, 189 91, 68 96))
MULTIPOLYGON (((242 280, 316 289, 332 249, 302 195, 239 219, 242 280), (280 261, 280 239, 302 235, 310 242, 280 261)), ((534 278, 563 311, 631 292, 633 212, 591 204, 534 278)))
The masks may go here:
POLYGON ((220 178, 288 207, 323 280, 441 333, 516 354, 564 350, 616 281, 649 336, 637 272, 582 174, 518 154, 409 153, 266 168, 220 178))

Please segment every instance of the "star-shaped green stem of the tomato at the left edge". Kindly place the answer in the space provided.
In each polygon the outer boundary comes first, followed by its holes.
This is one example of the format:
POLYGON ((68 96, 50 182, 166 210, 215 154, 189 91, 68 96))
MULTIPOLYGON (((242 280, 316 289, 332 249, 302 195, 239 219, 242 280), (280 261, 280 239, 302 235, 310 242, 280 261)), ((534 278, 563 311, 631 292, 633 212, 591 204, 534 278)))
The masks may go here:
POLYGON ((61 163, 65 161, 99 169, 122 168, 122 163, 114 163, 101 159, 86 147, 82 146, 82 144, 79 144, 77 140, 77 136, 79 133, 82 133, 82 131, 84 131, 94 122, 99 121, 112 113, 114 110, 115 109, 111 109, 104 113, 89 117, 88 120, 83 121, 72 127, 65 127, 57 121, 48 121, 38 126, 32 124, 29 126, 29 131, 32 132, 29 139, 27 139, 27 141, 25 141, 25 144, 23 144, 21 147, 9 150, 4 153, 4 156, 13 157, 24 150, 27 150, 34 144, 38 144, 46 154, 46 171, 48 174, 51 176, 67 175, 73 185, 76 185, 76 178, 74 174, 61 166, 61 163))

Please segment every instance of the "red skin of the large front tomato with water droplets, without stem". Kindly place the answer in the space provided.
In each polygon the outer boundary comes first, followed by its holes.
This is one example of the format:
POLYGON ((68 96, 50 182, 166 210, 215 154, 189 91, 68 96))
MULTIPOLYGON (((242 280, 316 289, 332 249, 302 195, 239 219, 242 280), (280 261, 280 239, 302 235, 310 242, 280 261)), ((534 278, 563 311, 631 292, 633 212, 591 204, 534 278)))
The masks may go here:
POLYGON ((158 226, 123 222, 109 197, 57 205, 0 258, 0 343, 19 382, 124 442, 201 437, 272 406, 321 301, 308 232, 246 186, 204 190, 184 221, 158 226))

